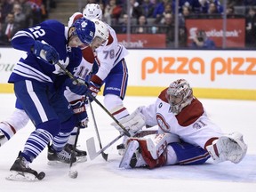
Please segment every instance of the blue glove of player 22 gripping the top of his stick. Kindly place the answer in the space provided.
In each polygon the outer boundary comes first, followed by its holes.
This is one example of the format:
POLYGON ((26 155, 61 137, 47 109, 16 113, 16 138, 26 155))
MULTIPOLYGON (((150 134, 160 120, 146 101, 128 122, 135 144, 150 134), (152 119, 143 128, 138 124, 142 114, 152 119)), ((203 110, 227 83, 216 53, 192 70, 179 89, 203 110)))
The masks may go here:
POLYGON ((37 58, 45 62, 55 64, 59 61, 59 53, 50 44, 43 44, 36 40, 32 51, 37 58))

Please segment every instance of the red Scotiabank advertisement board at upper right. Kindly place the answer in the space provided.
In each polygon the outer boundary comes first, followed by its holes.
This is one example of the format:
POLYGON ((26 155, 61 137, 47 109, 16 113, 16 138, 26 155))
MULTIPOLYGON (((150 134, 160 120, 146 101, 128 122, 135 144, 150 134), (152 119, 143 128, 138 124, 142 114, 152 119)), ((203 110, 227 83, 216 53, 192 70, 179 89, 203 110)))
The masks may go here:
MULTIPOLYGON (((206 35, 215 42, 217 47, 222 47, 224 35, 222 19, 187 19, 186 28, 188 32, 188 46, 191 44, 192 37, 196 36, 196 31, 203 29, 206 35)), ((244 48, 244 18, 227 19, 226 37, 227 48, 244 48)))

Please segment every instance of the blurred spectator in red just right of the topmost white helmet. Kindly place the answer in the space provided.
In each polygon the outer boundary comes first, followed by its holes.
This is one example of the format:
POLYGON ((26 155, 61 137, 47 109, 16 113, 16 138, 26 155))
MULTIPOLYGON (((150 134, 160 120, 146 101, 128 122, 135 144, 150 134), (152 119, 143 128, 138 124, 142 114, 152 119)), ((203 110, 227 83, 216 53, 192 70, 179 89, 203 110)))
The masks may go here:
POLYGON ((104 17, 109 25, 115 25, 122 13, 122 7, 116 4, 116 0, 110 0, 104 10, 104 17))

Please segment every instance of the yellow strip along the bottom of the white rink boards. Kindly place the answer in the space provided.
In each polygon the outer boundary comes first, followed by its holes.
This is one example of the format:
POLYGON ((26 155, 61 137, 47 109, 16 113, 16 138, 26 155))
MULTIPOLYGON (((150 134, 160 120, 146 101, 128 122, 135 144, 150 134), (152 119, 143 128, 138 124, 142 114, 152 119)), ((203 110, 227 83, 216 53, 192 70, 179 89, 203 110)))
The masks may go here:
MULTIPOLYGON (((166 87, 128 86, 126 95, 157 97, 164 88, 166 87)), ((256 90, 193 88, 193 92, 197 98, 256 100, 256 90)), ((13 84, 0 84, 0 93, 13 93, 13 84)))

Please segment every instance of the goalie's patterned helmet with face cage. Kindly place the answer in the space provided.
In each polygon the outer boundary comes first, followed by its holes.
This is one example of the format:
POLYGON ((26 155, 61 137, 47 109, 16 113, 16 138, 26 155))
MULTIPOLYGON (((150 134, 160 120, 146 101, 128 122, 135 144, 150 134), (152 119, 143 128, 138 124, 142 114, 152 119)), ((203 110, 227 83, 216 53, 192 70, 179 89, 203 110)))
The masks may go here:
POLYGON ((178 79, 170 84, 165 96, 171 105, 172 113, 178 115, 182 108, 188 106, 193 100, 193 91, 188 81, 178 79))

